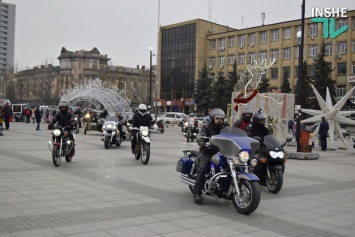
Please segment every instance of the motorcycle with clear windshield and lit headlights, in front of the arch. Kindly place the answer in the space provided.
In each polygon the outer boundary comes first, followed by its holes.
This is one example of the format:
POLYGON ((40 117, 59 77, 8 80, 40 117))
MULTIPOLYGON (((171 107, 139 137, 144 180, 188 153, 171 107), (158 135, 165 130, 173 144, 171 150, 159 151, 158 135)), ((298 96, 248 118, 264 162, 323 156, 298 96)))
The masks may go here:
POLYGON ((120 146, 124 141, 118 129, 119 123, 118 117, 115 114, 108 114, 106 116, 101 136, 106 149, 109 149, 113 144, 120 146))

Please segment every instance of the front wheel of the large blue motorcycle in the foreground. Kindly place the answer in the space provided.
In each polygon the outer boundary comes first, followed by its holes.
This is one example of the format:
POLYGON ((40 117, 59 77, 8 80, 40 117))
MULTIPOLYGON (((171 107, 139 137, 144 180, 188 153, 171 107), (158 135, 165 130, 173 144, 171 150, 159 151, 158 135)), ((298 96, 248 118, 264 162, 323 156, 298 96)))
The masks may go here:
POLYGON ((260 203, 260 186, 257 181, 241 179, 238 183, 240 196, 237 192, 232 193, 232 203, 237 212, 244 215, 253 213, 260 203))

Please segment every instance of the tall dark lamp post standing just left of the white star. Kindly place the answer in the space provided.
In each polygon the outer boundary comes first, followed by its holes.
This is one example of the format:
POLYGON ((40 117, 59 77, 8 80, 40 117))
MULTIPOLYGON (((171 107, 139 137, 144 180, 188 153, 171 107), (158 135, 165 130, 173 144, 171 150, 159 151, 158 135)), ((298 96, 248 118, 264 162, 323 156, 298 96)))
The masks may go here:
POLYGON ((305 14, 305 0, 302 0, 302 19, 301 19, 301 31, 297 32, 297 38, 299 39, 298 45, 298 90, 297 90, 297 126, 296 126, 296 141, 297 152, 301 151, 301 89, 303 80, 303 47, 304 47, 304 14, 305 14))

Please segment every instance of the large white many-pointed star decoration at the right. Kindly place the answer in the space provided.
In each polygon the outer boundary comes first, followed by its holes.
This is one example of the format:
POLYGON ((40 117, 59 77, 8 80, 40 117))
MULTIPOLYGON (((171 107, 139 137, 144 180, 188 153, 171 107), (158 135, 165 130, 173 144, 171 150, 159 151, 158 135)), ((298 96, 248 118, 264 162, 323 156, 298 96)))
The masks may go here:
MULTIPOLYGON (((343 98, 341 98, 341 100, 339 100, 338 103, 336 103, 334 106, 330 98, 328 87, 327 87, 326 101, 323 100, 323 98, 320 96, 317 89, 314 88, 313 85, 312 85, 312 89, 314 91, 314 94, 317 98, 321 110, 302 109, 302 112, 312 115, 314 117, 302 120, 301 122, 302 123, 321 122, 322 117, 325 117, 325 119, 329 123, 329 138, 330 138, 331 148, 334 149, 334 132, 344 143, 345 147, 348 147, 346 145, 343 133, 340 130, 339 123, 355 125, 354 120, 345 117, 351 114, 355 114, 355 111, 340 111, 340 109, 344 106, 346 100, 351 96, 355 87, 351 88, 351 90, 343 98)), ((316 134, 316 136, 318 136, 318 130, 319 130, 319 124, 317 128, 314 130, 313 134, 316 134)))

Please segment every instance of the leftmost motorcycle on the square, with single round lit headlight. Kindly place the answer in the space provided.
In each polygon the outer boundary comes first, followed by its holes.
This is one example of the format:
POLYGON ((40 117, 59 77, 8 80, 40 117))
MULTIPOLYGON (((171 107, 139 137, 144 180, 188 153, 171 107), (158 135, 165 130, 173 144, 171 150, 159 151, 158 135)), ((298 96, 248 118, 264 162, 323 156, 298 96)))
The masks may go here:
MULTIPOLYGON (((73 119, 70 120, 68 124, 72 122, 74 122, 73 119)), ((60 166, 63 156, 67 162, 71 162, 75 155, 74 142, 68 137, 70 132, 68 124, 64 127, 58 126, 51 132, 53 145, 52 141, 49 141, 48 146, 49 150, 52 152, 52 160, 55 167, 60 166)))

